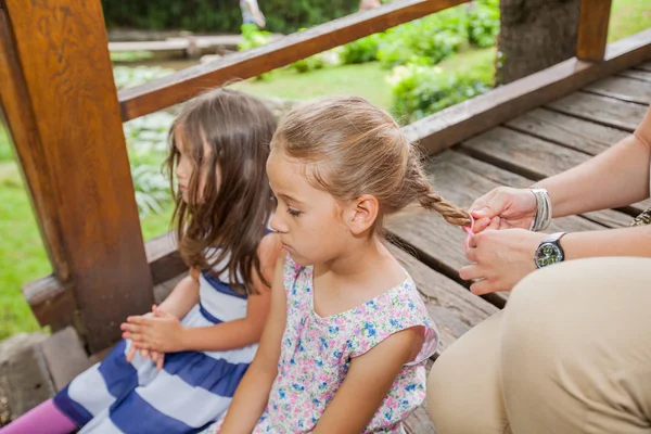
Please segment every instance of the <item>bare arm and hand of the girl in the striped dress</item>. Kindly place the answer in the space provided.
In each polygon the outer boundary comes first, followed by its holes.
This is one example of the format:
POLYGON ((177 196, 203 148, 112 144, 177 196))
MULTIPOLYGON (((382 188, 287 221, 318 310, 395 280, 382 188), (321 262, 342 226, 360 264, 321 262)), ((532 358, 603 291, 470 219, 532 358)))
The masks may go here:
MULTIPOLYGON (((267 235, 260 242, 260 268, 267 281, 272 279, 279 250, 276 235, 267 235)), ((255 344, 260 340, 271 296, 258 276, 254 276, 254 284, 259 294, 248 297, 245 318, 210 327, 183 328, 162 306, 154 311, 153 318, 128 318, 125 337, 133 340, 139 348, 159 353, 222 352, 255 344)))

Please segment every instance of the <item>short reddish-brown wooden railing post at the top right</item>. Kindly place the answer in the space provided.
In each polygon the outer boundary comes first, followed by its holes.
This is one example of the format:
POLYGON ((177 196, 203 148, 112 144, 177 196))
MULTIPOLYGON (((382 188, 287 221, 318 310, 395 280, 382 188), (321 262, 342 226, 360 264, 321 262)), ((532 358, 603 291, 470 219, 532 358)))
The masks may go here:
POLYGON ((611 0, 582 0, 576 56, 601 62, 605 54, 611 0))

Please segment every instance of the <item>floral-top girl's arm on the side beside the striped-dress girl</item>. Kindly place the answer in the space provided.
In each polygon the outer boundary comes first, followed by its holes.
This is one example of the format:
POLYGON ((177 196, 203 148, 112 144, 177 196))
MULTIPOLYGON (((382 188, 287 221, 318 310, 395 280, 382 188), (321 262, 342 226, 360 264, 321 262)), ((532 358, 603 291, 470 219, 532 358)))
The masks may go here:
POLYGON ((278 259, 271 286, 271 311, 255 359, 240 382, 221 426, 221 434, 251 433, 260 419, 278 374, 280 345, 286 321, 286 297, 282 279, 284 255, 278 259))

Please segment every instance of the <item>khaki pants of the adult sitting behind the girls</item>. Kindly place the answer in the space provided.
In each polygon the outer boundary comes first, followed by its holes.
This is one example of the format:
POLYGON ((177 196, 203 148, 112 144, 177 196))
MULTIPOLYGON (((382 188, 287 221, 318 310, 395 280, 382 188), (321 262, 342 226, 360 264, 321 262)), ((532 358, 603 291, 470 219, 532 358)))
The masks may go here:
POLYGON ((427 387, 439 434, 651 433, 651 259, 532 273, 427 387))

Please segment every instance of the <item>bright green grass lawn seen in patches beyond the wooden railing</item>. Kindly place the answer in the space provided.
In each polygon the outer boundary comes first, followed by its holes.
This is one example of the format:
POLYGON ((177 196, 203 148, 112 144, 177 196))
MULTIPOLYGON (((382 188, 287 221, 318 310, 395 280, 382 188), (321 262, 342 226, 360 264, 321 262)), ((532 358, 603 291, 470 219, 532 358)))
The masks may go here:
MULTIPOLYGON (((651 27, 649 0, 614 0, 609 41, 622 39, 651 27)), ((495 49, 467 50, 438 64, 458 72, 493 71, 495 49)), ((392 94, 385 85, 388 72, 378 63, 324 68, 309 74, 273 72, 269 80, 247 80, 234 85, 244 91, 266 97, 310 99, 328 94, 359 94, 390 108, 392 94)), ((159 215, 142 220, 145 240, 165 232, 169 206, 159 215)), ((0 340, 20 331, 35 331, 21 285, 51 271, 38 226, 25 192, 5 131, 0 125, 0 340)))

